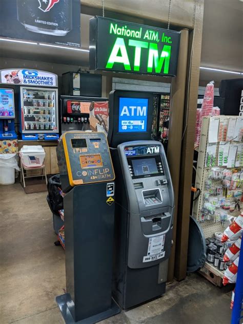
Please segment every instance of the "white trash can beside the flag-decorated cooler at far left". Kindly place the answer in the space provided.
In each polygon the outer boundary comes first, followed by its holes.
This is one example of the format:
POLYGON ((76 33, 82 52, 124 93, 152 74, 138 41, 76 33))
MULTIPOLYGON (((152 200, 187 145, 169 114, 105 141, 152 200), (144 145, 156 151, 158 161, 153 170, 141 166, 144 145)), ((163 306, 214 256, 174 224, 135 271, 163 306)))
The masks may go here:
POLYGON ((0 185, 15 183, 15 169, 19 171, 16 153, 0 154, 0 185))

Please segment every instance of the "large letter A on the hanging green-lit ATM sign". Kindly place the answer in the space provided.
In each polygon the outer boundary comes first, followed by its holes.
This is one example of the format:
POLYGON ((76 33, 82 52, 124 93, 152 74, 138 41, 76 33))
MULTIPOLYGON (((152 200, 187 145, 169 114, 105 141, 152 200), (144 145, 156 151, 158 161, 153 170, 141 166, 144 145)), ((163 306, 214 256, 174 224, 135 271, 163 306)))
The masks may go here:
POLYGON ((113 49, 111 51, 111 55, 108 59, 106 68, 112 69, 114 63, 122 63, 124 65, 124 69, 131 71, 131 66, 128 58, 128 53, 126 49, 126 45, 123 38, 117 37, 113 49), (118 56, 118 53, 121 53, 121 56, 118 56))

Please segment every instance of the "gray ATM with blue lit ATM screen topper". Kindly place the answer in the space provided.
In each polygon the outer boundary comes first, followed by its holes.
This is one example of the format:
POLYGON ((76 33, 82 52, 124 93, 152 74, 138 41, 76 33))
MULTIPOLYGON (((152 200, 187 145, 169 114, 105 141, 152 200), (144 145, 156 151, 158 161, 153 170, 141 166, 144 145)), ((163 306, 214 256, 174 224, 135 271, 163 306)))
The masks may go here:
POLYGON ((163 145, 149 140, 152 93, 113 91, 109 102, 116 174, 112 291, 128 309, 165 293, 174 193, 163 145))

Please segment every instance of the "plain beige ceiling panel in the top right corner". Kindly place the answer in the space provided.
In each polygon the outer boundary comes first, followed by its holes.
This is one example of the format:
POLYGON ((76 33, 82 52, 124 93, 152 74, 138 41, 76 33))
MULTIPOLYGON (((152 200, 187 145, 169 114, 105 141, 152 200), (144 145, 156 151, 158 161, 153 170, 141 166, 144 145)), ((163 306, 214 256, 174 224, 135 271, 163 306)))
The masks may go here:
POLYGON ((243 72, 242 35, 243 2, 205 0, 201 66, 243 72))

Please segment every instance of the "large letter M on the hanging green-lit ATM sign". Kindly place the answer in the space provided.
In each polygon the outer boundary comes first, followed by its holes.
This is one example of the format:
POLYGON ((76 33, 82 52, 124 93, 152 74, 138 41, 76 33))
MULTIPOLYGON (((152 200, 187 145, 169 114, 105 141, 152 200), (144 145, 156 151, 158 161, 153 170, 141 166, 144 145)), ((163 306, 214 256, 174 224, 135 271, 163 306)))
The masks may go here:
POLYGON ((160 58, 158 58, 158 45, 155 43, 149 44, 148 72, 153 72, 153 64, 156 73, 161 73, 164 65, 164 73, 169 73, 171 46, 164 45, 160 58))

